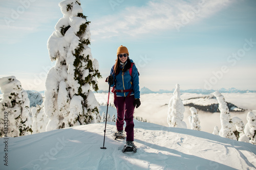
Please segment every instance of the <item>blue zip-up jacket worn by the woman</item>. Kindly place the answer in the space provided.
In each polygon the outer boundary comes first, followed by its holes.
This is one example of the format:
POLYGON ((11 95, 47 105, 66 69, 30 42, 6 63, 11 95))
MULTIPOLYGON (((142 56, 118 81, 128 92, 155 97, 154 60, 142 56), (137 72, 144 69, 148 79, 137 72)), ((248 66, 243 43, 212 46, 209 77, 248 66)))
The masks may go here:
MULTIPOLYGON (((131 60, 131 63, 133 62, 133 60, 131 60)), ((120 72, 118 75, 115 76, 114 73, 114 66, 111 69, 110 74, 113 76, 114 78, 114 83, 111 85, 111 87, 113 87, 115 85, 115 89, 117 90, 127 90, 127 89, 133 89, 133 92, 131 93, 134 94, 134 98, 135 99, 139 99, 140 98, 140 88, 139 88, 139 74, 138 74, 138 69, 135 66, 135 64, 133 64, 132 67, 132 76, 130 75, 129 69, 127 69, 124 73, 122 72, 123 67, 125 66, 125 64, 127 63, 127 61, 123 64, 120 65, 120 72)), ((116 95, 118 96, 127 96, 129 94, 129 92, 117 92, 116 95)))

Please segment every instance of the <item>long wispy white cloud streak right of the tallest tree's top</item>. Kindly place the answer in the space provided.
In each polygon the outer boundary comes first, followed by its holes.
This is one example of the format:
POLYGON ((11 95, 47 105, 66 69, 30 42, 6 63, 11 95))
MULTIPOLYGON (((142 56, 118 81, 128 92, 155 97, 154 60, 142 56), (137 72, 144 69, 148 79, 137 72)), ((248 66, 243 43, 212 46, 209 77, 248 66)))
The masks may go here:
MULTIPOLYGON (((233 1, 232 1, 233 2, 233 1)), ((207 18, 232 3, 230 0, 150 1, 142 7, 127 7, 92 23, 92 34, 101 37, 137 36, 156 31, 178 30, 207 18)))

